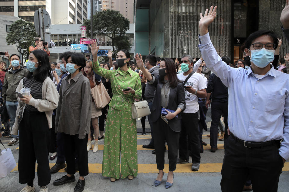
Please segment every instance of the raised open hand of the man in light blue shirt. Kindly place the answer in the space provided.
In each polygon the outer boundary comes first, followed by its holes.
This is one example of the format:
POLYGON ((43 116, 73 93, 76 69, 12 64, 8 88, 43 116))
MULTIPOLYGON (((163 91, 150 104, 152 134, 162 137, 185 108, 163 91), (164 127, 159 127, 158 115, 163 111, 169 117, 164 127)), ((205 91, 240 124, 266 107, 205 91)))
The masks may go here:
POLYGON ((209 13, 208 9, 206 9, 204 17, 202 13, 200 13, 200 21, 199 21, 199 29, 200 29, 200 36, 206 35, 208 32, 208 26, 214 21, 216 18, 216 9, 217 6, 211 6, 209 13))

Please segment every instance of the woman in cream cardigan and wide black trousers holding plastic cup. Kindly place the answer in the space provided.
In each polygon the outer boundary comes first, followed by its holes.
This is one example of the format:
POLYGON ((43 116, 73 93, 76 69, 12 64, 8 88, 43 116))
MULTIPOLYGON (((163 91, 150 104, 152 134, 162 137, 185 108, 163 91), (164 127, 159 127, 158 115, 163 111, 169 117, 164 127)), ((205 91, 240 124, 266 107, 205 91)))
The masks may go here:
POLYGON ((58 105, 59 94, 52 82, 51 67, 48 55, 42 50, 30 53, 27 61, 28 73, 16 92, 30 88, 29 96, 17 95, 18 107, 12 134, 19 129, 19 182, 26 184, 21 191, 35 191, 35 160, 40 192, 47 192, 50 183, 49 172, 49 137, 52 128, 52 113, 58 105))

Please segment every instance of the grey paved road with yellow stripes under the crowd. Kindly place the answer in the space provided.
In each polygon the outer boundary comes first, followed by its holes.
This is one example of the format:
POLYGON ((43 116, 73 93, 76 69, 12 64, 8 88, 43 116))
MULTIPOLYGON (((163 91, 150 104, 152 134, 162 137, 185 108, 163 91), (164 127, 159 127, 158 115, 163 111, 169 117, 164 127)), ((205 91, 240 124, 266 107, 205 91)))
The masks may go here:
MULTIPOLYGON (((207 124, 210 127, 210 111, 207 116, 207 124)), ((204 153, 201 153, 201 165, 200 170, 197 172, 191 171, 191 160, 190 164, 179 164, 174 174, 174 184, 171 188, 165 188, 166 176, 168 172, 168 153, 165 153, 165 175, 163 177, 163 183, 155 187, 154 180, 157 176, 157 168, 155 163, 155 155, 151 153, 152 150, 146 150, 141 147, 143 144, 148 144, 150 141, 150 133, 147 135, 141 135, 141 122, 137 122, 138 129, 138 176, 129 181, 128 179, 120 179, 116 182, 110 182, 109 178, 101 176, 101 163, 103 149, 102 145, 104 140, 99 141, 99 151, 93 153, 92 150, 88 153, 89 160, 89 175, 85 177, 85 192, 92 191, 221 191, 220 181, 221 181, 221 167, 222 160, 224 157, 223 142, 218 141, 218 150, 215 153, 210 152, 210 145, 204 146, 204 153)), ((146 123, 146 130, 149 131, 148 122, 146 123)), ((204 132, 203 140, 209 143, 209 138, 206 137, 204 132)), ((41 138, 39 138, 41 139, 41 138)), ((2 138, 3 143, 7 147, 7 143, 10 138, 2 138)), ((18 143, 14 146, 10 146, 16 163, 18 162, 18 143)), ((2 147, 3 148, 3 147, 2 147)), ((51 155, 51 154, 50 154, 51 155)), ((54 165, 54 161, 49 161, 50 166, 54 165)), ((37 170, 37 169, 36 169, 37 170)), ((64 184, 62 186, 53 186, 52 182, 55 179, 60 178, 65 174, 64 170, 59 173, 54 173, 51 175, 51 184, 48 185, 49 191, 55 192, 73 192, 73 188, 76 182, 70 184, 64 184)), ((76 173, 76 178, 78 178, 78 173, 76 173)), ((279 179, 278 192, 289 191, 289 163, 285 163, 283 172, 279 179), (284 171, 285 170, 285 171, 284 171)), ((39 190, 37 186, 37 173, 35 174, 34 184, 36 184, 36 191, 39 190)), ((0 178, 0 192, 14 192, 20 191, 24 185, 18 182, 18 171, 17 167, 8 174, 5 178, 0 178)))

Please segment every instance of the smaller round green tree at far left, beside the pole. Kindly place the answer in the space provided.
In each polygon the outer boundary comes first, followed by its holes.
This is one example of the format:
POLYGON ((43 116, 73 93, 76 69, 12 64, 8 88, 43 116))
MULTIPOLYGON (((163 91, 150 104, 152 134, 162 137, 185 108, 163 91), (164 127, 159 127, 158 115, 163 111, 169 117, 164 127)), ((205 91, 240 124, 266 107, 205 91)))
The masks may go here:
POLYGON ((34 44, 34 38, 38 36, 34 24, 19 19, 10 26, 10 31, 6 37, 7 45, 16 44, 18 52, 23 49, 23 56, 28 55, 29 46, 34 44))

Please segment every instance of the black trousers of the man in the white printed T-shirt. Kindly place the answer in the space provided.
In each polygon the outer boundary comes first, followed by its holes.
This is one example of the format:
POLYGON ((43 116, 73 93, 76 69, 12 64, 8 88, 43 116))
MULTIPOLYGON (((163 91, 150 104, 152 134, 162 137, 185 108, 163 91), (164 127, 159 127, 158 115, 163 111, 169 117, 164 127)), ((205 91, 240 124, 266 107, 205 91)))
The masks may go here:
POLYGON ((179 140, 179 158, 189 159, 188 145, 193 163, 200 163, 200 137, 197 113, 182 114, 182 131, 179 140))

